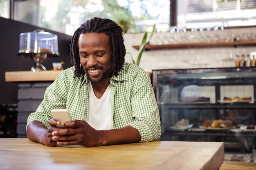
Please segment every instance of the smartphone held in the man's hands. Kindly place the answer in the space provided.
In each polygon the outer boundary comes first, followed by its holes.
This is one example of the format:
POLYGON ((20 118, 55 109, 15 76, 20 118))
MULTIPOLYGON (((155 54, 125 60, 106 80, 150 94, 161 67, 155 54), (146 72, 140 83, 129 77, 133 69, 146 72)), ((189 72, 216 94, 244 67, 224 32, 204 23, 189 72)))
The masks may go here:
POLYGON ((70 112, 67 109, 52 109, 52 118, 61 121, 57 127, 61 128, 67 121, 72 121, 70 112))

